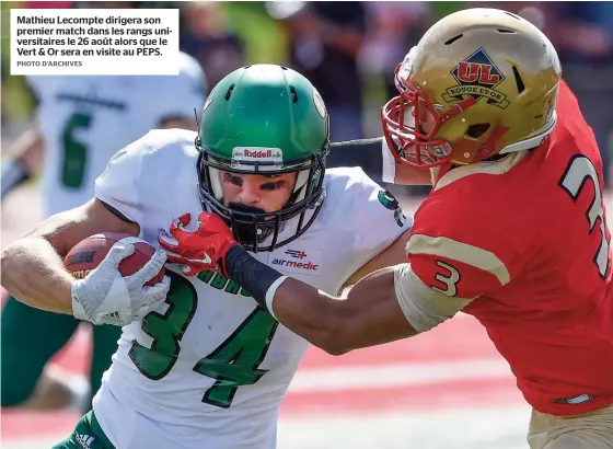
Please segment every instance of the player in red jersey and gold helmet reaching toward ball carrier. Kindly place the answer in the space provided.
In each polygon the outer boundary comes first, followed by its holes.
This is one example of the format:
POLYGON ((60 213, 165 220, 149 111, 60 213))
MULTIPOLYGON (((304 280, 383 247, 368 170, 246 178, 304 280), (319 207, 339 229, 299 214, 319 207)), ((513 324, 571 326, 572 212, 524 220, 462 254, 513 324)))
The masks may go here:
MULTIPOLYGON (((602 161, 560 76, 547 37, 505 11, 456 12, 426 33, 398 66, 400 95, 382 119, 396 169, 431 169, 433 187, 408 261, 367 276, 345 300, 255 261, 217 217, 201 217, 199 247, 331 354, 410 337, 463 310, 533 407, 532 449, 613 448, 602 161)), ((177 235, 169 260, 187 263, 177 235)))

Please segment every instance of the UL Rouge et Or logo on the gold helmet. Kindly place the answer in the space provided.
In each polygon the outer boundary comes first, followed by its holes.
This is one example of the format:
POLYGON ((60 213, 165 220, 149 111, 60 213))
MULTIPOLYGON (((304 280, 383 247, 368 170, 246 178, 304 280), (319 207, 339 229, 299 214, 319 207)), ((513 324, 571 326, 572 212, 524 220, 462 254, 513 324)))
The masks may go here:
POLYGON ((459 85, 446 90, 442 94, 446 102, 456 103, 464 96, 472 96, 475 100, 485 97, 488 103, 502 110, 510 104, 507 95, 495 89, 506 77, 483 48, 460 61, 451 74, 459 85))

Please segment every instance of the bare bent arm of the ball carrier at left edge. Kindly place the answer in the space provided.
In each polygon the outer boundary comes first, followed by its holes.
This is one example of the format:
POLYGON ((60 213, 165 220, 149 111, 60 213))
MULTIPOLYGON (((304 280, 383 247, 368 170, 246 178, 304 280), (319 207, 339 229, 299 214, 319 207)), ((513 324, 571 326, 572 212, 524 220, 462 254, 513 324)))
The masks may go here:
POLYGON ((2 287, 28 306, 71 314, 76 279, 65 269, 63 256, 99 232, 138 235, 139 229, 117 218, 97 199, 57 214, 2 251, 2 287))

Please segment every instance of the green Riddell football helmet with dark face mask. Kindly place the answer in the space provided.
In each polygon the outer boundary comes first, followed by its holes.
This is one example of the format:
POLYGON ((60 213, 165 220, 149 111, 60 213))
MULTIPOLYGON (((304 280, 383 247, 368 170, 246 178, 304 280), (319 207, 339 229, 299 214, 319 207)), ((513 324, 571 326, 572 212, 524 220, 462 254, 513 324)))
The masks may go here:
POLYGON ((328 115, 307 78, 282 66, 238 69, 215 87, 203 107, 196 139, 203 206, 223 218, 246 250, 274 251, 315 220, 325 196, 328 147, 328 115), (289 200, 280 210, 266 212, 232 203, 225 206, 220 170, 298 174, 289 200), (294 218, 296 229, 290 229, 287 222, 294 218))

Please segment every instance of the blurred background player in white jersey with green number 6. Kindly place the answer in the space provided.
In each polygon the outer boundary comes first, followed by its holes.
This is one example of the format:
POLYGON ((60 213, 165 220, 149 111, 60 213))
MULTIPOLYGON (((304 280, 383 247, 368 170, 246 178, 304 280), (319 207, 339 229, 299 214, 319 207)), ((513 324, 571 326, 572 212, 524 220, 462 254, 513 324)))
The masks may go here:
MULTIPOLYGON (((186 54, 181 54, 180 74, 173 77, 30 77, 27 81, 38 100, 37 126, 18 141, 15 158, 3 164, 2 196, 37 172, 44 157, 45 216, 88 202, 95 179, 118 148, 152 128, 194 128, 194 110, 201 106, 206 89, 198 62, 186 54)), ((67 405, 76 396, 73 387, 43 370, 79 321, 26 307, 14 298, 9 298, 1 320, 1 405, 67 405)), ((111 365, 119 335, 115 326, 93 330, 92 393, 111 365)), ((88 400, 88 410, 90 405, 88 400)))

